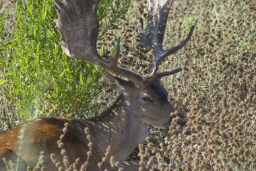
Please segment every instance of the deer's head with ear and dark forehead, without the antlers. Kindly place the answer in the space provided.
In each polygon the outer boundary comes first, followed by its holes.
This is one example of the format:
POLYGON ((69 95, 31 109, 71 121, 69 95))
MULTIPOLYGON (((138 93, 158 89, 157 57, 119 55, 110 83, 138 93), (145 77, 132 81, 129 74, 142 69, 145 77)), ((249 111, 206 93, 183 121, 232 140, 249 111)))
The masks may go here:
POLYGON ((167 100, 167 91, 158 79, 152 79, 136 86, 133 81, 125 81, 110 74, 103 74, 108 85, 122 92, 131 106, 131 113, 142 123, 166 129, 170 125, 170 112, 174 108, 167 100))

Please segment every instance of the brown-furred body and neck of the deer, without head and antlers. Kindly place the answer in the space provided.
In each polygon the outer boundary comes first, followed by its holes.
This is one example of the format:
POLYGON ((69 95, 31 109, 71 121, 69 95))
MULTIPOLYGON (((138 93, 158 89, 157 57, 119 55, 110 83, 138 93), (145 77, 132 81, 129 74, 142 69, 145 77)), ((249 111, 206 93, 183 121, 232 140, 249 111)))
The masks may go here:
MULTIPOLYGON (((135 90, 131 92, 137 94, 135 90)), ((131 96, 129 98, 133 99, 134 97, 131 96)), ((144 117, 138 112, 138 107, 141 104, 138 104, 134 100, 127 100, 129 98, 125 98, 123 95, 119 96, 113 106, 102 112, 100 116, 90 120, 40 118, 1 133, 0 158, 7 157, 7 153, 4 153, 1 149, 9 149, 9 153, 22 157, 24 160, 23 163, 32 169, 38 163, 40 152, 44 151, 43 160, 46 170, 57 170, 57 167, 50 158, 51 153, 55 153, 57 161, 60 162, 59 166, 64 168, 62 162, 63 156, 61 155, 61 149, 58 147, 57 141, 60 139, 60 135, 63 134, 62 129, 65 123, 69 123, 67 133, 65 133, 62 140, 64 149, 67 151, 69 164, 73 164, 79 158, 80 162, 77 163, 77 168, 79 169, 87 161, 87 152, 90 148, 88 147, 88 139, 86 139, 86 133, 84 131, 86 127, 90 131, 90 139, 93 143, 92 156, 88 160, 88 170, 99 170, 97 164, 102 162, 108 146, 110 146, 109 155, 107 161, 102 164, 102 169, 110 169, 110 156, 114 156, 115 160, 122 164, 135 146, 138 143, 142 143, 148 135, 148 124, 143 121, 144 117)), ((156 107, 152 106, 152 108, 156 107)), ((152 108, 148 110, 154 112, 152 108)), ((172 108, 168 103, 166 103, 165 108, 165 113, 152 116, 154 123, 157 120, 159 120, 159 123, 162 123, 162 121, 166 123, 168 121, 172 108)), ((148 114, 147 111, 146 114, 148 114)), ((148 118, 150 117, 147 117, 147 121, 148 118)), ((137 167, 125 163, 123 163, 123 166, 127 170, 129 166, 137 167)), ((3 168, 5 166, 3 163, 0 163, 0 167, 3 168)))

